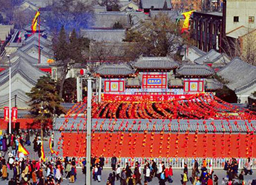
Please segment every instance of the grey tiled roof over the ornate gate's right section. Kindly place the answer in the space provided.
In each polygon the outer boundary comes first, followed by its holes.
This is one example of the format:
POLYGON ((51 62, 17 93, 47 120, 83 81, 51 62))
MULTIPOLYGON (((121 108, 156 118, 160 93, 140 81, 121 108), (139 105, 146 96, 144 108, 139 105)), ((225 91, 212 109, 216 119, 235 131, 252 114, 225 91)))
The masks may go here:
POLYGON ((211 76, 214 70, 205 64, 183 64, 177 71, 180 76, 211 76))

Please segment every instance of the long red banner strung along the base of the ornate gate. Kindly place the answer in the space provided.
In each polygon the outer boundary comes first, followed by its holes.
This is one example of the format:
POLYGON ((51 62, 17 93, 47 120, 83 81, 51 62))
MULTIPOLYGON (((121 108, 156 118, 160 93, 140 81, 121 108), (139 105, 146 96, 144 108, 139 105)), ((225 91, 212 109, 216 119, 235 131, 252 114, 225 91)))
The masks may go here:
POLYGON ((102 95, 102 101, 173 101, 174 99, 188 99, 193 98, 195 95, 102 95))

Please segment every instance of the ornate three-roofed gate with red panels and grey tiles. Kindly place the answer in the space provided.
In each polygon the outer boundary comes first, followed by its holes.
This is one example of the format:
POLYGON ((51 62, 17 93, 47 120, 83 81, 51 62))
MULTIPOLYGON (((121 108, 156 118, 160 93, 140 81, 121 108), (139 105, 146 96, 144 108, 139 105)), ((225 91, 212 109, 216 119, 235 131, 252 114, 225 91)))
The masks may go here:
POLYGON ((103 64, 95 74, 102 77, 104 94, 185 95, 214 92, 223 84, 212 78, 208 64, 179 64, 169 57, 140 57, 133 64, 103 64))

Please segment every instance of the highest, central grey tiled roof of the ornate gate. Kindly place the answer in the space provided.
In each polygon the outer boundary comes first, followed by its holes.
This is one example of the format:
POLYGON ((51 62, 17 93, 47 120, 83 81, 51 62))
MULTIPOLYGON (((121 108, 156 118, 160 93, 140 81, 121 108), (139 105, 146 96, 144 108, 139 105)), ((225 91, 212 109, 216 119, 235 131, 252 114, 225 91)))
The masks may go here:
POLYGON ((138 70, 174 70, 179 64, 168 57, 140 57, 134 63, 134 67, 138 70))

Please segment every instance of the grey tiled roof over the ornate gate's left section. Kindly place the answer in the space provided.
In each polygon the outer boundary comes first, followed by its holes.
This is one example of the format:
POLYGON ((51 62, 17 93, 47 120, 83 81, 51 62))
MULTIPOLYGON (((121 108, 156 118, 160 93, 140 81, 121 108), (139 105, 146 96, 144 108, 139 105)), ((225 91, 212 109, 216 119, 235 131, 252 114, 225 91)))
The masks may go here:
POLYGON ((134 69, 128 64, 102 64, 96 70, 101 76, 128 76, 134 74, 134 69))

